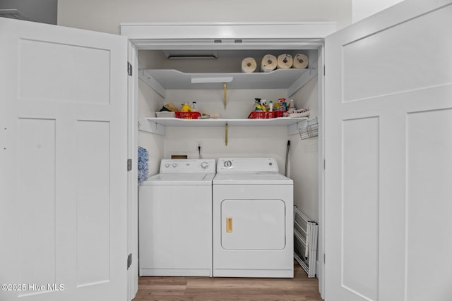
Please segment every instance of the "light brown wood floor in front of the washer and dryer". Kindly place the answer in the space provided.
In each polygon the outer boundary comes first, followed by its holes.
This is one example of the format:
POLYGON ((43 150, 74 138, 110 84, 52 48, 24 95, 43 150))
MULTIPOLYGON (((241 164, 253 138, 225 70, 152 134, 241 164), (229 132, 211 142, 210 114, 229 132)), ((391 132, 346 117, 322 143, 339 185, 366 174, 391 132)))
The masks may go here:
POLYGON ((133 301, 322 301, 317 278, 294 262, 294 278, 139 277, 133 301))

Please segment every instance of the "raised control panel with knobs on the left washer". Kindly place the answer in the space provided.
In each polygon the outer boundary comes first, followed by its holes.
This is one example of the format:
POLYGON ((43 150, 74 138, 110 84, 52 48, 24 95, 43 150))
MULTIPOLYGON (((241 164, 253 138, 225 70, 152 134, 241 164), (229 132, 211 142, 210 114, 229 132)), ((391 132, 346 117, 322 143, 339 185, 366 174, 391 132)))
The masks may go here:
POLYGON ((162 159, 160 173, 215 173, 215 159, 162 159))

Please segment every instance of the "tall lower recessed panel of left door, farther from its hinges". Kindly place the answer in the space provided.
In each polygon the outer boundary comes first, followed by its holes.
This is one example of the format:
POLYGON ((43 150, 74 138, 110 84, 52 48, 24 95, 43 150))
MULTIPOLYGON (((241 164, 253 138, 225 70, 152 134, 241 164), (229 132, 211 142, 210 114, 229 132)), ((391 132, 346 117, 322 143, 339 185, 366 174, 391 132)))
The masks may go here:
POLYGON ((56 278, 55 132, 55 120, 18 119, 18 172, 22 175, 17 199, 19 283, 35 283, 37 279, 54 283, 56 278))

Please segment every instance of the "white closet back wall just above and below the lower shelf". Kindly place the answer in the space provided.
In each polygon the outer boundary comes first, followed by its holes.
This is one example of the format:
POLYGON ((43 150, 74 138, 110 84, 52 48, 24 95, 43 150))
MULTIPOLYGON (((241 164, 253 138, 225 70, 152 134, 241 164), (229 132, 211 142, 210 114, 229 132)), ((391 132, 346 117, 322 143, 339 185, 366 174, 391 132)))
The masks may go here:
MULTIPOLYGON (((228 90, 227 109, 223 106, 222 90, 167 90, 167 99, 196 101, 200 111, 220 113, 222 118, 247 118, 254 107, 254 98, 278 99, 285 97, 285 90, 228 90)), ((179 102, 175 102, 180 107, 179 102)), ((280 171, 284 172, 287 127, 234 127, 228 130, 228 143, 225 145, 225 128, 181 128, 167 127, 165 136, 165 158, 172 154, 187 154, 198 158, 196 141, 203 142, 203 158, 222 156, 271 156, 278 161, 280 171)))

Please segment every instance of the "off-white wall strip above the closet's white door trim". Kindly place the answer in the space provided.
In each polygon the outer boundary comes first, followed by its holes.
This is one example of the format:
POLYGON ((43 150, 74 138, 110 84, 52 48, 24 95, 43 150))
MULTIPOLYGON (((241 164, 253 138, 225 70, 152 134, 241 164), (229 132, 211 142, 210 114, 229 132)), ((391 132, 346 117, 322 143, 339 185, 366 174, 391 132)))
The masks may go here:
POLYGON ((352 23, 352 0, 59 0, 58 24, 119 33, 126 22, 333 21, 352 23))

